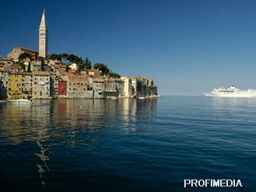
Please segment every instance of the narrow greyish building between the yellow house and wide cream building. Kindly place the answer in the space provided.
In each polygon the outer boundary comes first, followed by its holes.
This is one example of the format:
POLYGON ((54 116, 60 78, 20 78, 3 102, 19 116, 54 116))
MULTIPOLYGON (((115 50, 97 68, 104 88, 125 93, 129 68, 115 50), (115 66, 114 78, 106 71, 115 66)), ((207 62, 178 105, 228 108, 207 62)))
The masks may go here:
POLYGON ((32 97, 33 74, 29 72, 22 72, 22 93, 23 97, 32 97))

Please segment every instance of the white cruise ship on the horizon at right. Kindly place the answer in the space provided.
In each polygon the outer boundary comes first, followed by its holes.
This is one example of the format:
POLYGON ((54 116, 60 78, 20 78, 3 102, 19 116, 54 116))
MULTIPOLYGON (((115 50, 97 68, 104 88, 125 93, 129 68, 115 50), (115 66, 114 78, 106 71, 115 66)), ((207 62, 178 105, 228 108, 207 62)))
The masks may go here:
POLYGON ((226 98, 252 98, 256 97, 256 90, 240 90, 235 86, 230 86, 229 88, 219 87, 218 89, 213 89, 212 92, 204 93, 208 97, 226 97, 226 98))

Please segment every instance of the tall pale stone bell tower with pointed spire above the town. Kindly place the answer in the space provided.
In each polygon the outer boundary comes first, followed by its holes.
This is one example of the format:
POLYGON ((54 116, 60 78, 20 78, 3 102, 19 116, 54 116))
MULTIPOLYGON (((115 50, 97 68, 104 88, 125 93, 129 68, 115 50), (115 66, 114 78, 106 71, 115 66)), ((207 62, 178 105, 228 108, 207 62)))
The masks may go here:
POLYGON ((48 55, 48 26, 45 20, 45 12, 42 14, 39 26, 39 56, 47 57, 48 55))

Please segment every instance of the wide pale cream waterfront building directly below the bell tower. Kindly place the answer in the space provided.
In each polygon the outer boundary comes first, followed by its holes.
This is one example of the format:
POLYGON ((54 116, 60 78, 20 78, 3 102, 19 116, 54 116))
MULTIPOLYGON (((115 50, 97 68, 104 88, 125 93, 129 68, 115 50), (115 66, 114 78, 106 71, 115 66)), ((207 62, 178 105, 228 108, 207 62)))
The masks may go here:
POLYGON ((50 73, 44 71, 33 72, 33 98, 51 98, 50 73))

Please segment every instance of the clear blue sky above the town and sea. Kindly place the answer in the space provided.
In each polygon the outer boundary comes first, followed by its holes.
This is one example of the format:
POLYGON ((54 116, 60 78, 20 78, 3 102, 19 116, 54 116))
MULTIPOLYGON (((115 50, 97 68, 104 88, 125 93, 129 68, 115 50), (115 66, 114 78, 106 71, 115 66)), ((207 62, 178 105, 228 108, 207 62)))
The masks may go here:
POLYGON ((251 0, 1 1, 0 56, 38 49, 43 9, 49 52, 151 76, 159 94, 256 88, 256 2, 251 0))

